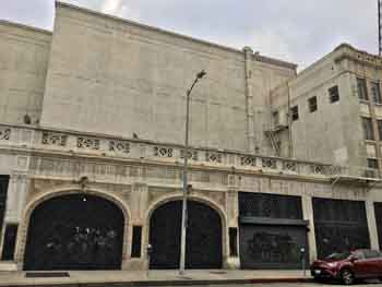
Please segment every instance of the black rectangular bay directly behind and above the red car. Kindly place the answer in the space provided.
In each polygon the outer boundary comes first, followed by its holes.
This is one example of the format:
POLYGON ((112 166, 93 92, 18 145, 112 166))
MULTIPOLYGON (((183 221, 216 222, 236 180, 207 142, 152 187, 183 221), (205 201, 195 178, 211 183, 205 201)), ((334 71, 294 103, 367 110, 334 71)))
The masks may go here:
POLYGON ((370 247, 365 202, 314 198, 313 217, 319 258, 370 247))

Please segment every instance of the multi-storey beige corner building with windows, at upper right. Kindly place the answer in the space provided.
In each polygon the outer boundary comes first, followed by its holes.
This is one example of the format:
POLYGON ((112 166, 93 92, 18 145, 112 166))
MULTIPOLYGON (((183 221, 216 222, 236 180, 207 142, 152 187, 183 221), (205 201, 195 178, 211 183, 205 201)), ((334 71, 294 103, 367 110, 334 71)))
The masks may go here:
POLYGON ((335 164, 347 167, 353 176, 379 178, 381 68, 380 57, 343 44, 275 88, 270 130, 280 144, 279 155, 335 164))

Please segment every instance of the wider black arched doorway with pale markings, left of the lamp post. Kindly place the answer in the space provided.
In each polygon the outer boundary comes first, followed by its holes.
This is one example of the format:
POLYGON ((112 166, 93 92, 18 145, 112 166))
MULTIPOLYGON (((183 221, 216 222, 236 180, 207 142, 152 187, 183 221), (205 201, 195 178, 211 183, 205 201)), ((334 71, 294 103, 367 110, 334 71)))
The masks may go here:
POLYGON ((119 270, 124 216, 112 202, 69 194, 32 213, 24 270, 119 270))

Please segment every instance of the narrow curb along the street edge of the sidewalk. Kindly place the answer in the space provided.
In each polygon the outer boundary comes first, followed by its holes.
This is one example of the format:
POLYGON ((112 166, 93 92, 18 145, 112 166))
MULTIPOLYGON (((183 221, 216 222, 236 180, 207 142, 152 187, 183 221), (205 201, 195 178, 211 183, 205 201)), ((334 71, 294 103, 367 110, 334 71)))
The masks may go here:
MULTIPOLYGON (((274 283, 312 283, 311 277, 296 277, 296 278, 252 278, 252 279, 212 279, 212 280, 136 280, 136 282, 103 282, 103 283, 32 283, 32 284, 15 284, 7 285, 10 287, 133 287, 133 286, 203 286, 203 285, 240 285, 240 284, 274 284, 274 283)), ((3 285, 0 285, 3 286, 3 285)))

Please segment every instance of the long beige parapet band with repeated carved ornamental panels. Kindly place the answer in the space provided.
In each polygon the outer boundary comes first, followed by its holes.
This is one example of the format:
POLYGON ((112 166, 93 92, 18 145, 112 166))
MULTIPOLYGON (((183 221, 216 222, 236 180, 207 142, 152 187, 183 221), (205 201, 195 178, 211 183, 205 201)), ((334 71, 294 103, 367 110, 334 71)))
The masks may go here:
MULTIPOLYGON (((0 125, 0 148, 22 148, 46 154, 67 153, 72 156, 92 156, 111 160, 155 160, 156 163, 176 165, 181 164, 184 157, 182 145, 26 125, 0 125)), ((193 167, 256 171, 264 175, 327 179, 337 175, 346 175, 348 170, 344 167, 314 162, 204 147, 191 147, 188 156, 189 163, 193 167)))

